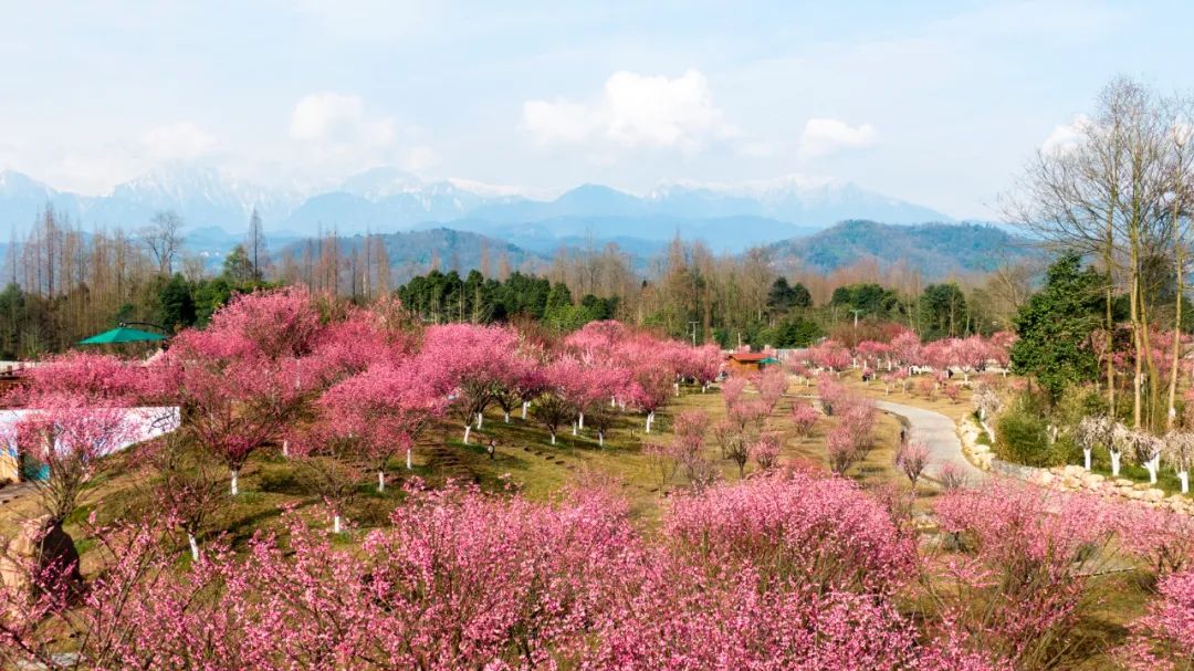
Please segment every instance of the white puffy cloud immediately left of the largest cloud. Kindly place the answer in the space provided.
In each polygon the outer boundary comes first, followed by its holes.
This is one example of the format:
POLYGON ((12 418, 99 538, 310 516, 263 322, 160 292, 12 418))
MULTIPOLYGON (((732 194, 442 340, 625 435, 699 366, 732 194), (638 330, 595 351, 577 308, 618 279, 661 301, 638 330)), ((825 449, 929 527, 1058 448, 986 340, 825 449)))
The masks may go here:
POLYGON ((369 118, 364 100, 325 91, 312 93, 290 115, 290 137, 312 142, 388 144, 394 138, 390 118, 369 118))

